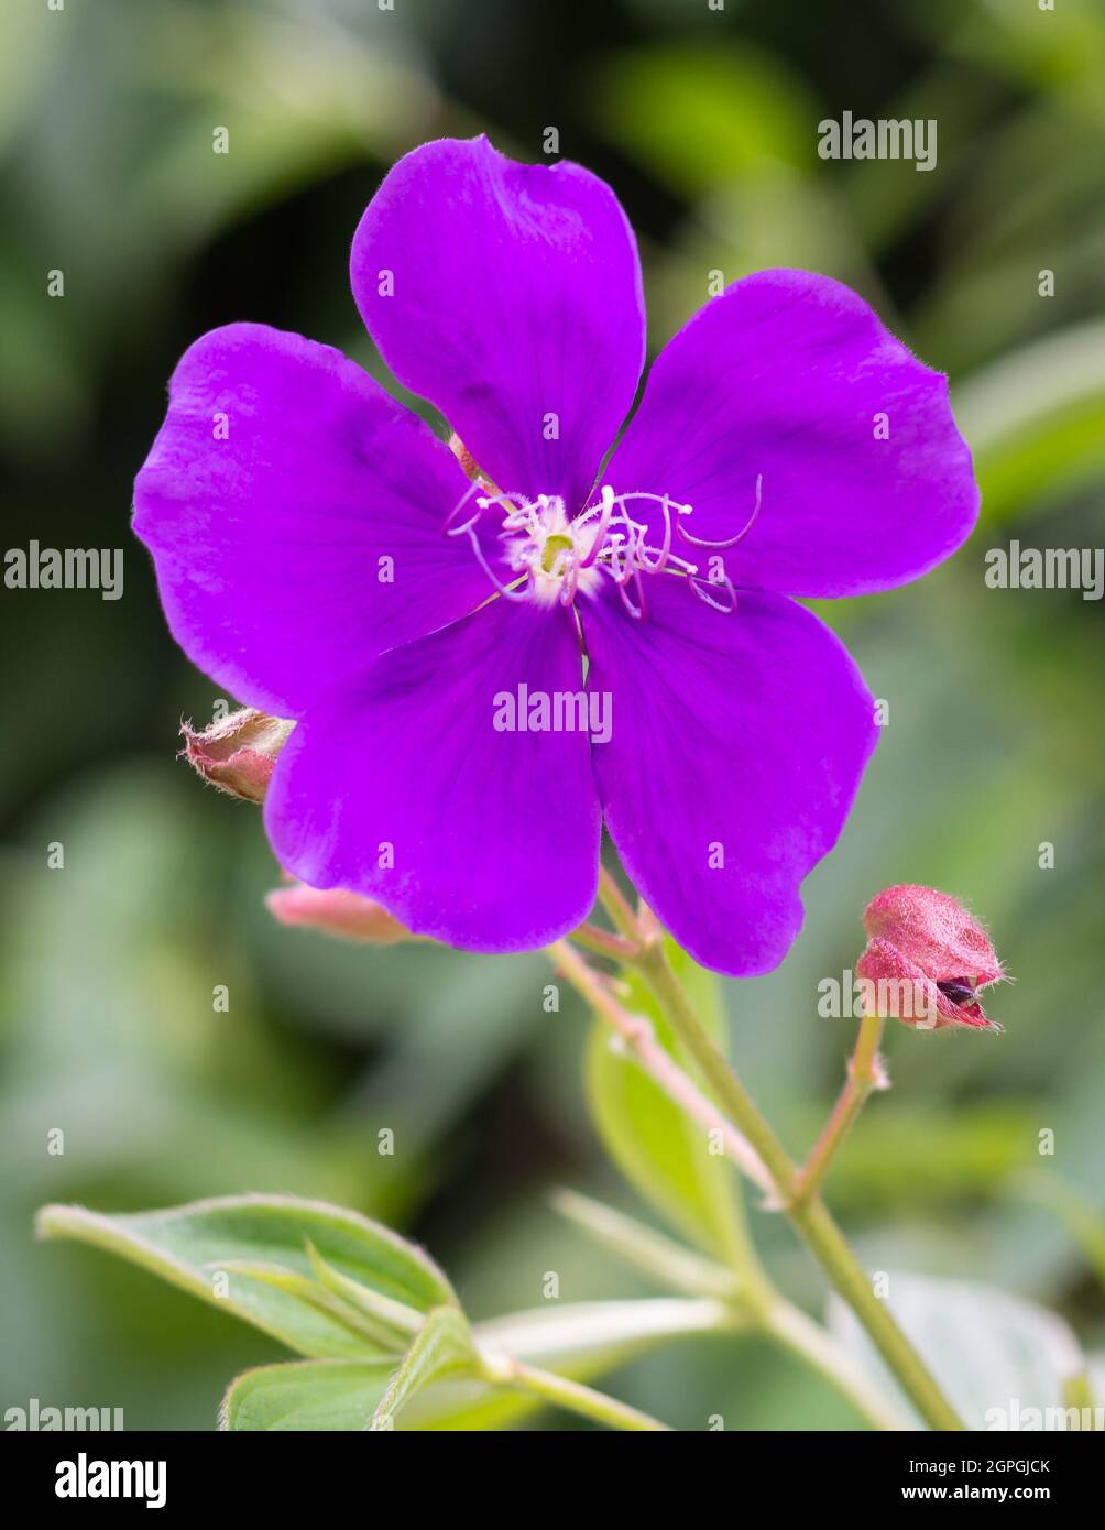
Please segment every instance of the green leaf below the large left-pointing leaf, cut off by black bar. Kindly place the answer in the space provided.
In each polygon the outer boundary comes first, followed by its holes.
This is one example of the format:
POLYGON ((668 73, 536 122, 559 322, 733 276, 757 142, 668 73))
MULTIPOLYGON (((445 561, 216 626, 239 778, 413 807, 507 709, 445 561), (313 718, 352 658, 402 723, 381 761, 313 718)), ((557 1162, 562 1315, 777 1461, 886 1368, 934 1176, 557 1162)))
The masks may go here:
POLYGON ((380 1406, 387 1360, 291 1360, 243 1371, 227 1388, 219 1427, 259 1431, 364 1429, 380 1406))

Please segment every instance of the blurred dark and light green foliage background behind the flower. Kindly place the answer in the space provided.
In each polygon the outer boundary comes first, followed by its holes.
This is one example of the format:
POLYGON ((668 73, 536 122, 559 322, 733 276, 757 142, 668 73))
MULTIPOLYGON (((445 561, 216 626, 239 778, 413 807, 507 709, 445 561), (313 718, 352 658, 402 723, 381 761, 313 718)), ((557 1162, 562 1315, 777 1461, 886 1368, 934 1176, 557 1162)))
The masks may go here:
MULTIPOLYGON (((548 1203, 569 1184, 650 1215, 588 1115, 585 1014, 542 1013, 540 956, 372 953, 268 921, 257 814, 174 759, 179 719, 208 721, 217 693, 170 641, 127 529, 196 335, 268 321, 383 376, 346 278, 380 176, 445 133, 540 159, 548 125, 638 230, 654 349, 710 269, 797 265, 856 286, 952 376, 983 520, 921 584, 823 612, 889 727, 790 958, 725 985, 733 1051, 803 1151, 852 1033, 817 1014, 817 982, 851 967, 865 901, 894 881, 969 901, 1016 979, 993 996, 1006 1034, 895 1027, 895 1088, 831 1201, 877 1267, 993 1281, 1100 1346, 1102 615, 1077 591, 983 581, 1010 539, 1105 542, 1099 0, 21 0, 2 26, 5 546, 127 549, 119 601, 0 589, 3 1406, 208 1429, 228 1377, 277 1357, 104 1255, 35 1245, 47 1200, 343 1201, 425 1241, 479 1316, 537 1305, 549 1268, 563 1299, 647 1290, 548 1203), (937 118, 938 167, 820 161, 816 124, 843 110, 937 118), (46 297, 55 268, 64 298, 46 297), (64 1157, 46 1152, 57 1126, 64 1157)), ((817 1307, 787 1227, 755 1229, 817 1307)), ((673 1345, 609 1388, 684 1427, 707 1403, 730 1429, 856 1424, 753 1342, 673 1345)))

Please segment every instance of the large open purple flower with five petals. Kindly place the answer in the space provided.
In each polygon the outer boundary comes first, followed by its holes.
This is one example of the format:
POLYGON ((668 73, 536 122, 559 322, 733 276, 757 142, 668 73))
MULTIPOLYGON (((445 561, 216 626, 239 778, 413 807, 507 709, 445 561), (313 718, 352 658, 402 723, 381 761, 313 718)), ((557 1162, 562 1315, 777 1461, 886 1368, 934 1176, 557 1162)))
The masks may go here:
POLYGON ((484 138, 395 165, 352 286, 478 479, 337 350, 230 324, 178 366, 135 491, 176 640, 298 724, 280 861, 514 950, 586 918, 605 822, 699 961, 770 970, 875 742, 794 597, 889 589, 969 534, 944 378, 848 288, 759 272, 670 341, 603 467, 644 358, 632 231, 586 170, 484 138))

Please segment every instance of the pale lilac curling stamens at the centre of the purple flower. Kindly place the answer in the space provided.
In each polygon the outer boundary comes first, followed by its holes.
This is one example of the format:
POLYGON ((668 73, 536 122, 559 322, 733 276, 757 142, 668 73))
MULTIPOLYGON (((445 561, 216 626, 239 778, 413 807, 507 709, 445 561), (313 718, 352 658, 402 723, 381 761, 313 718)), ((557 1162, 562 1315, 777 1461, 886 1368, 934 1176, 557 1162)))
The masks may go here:
POLYGON ((540 606, 571 606, 583 594, 594 597, 605 578, 612 580, 631 617, 644 615, 644 575, 675 574, 715 610, 736 607, 736 592, 724 558, 699 563, 672 551, 678 539, 692 548, 719 552, 733 548, 748 534, 759 514, 762 479, 756 479, 756 505, 747 525, 724 542, 693 537, 684 523, 690 505, 680 505, 669 494, 634 491, 615 494, 606 483, 580 516, 569 516, 559 494, 500 494, 476 479, 450 517, 450 537, 467 536, 485 574, 507 600, 533 600, 540 606), (453 525, 478 490, 474 509, 461 525, 453 525), (504 581, 490 566, 478 534, 484 516, 500 517, 499 540, 504 562, 513 575, 504 581))

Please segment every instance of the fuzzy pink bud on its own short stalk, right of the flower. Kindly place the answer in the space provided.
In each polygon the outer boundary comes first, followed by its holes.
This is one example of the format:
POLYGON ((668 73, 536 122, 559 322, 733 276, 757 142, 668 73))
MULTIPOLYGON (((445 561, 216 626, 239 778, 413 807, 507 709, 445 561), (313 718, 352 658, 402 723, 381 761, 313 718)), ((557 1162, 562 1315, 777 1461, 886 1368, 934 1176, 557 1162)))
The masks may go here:
MULTIPOLYGON (((983 926, 955 898, 932 887, 888 887, 868 904, 863 927, 869 939, 856 962, 857 975, 874 984, 877 994, 897 984, 898 993, 911 985, 914 994, 924 996, 897 1019, 932 1030, 1001 1030, 978 1002, 978 990, 1004 976, 1001 962, 983 926)), ((882 1001, 880 1013, 886 1013, 882 1001)))

